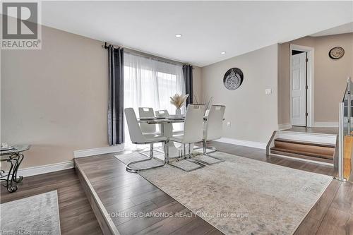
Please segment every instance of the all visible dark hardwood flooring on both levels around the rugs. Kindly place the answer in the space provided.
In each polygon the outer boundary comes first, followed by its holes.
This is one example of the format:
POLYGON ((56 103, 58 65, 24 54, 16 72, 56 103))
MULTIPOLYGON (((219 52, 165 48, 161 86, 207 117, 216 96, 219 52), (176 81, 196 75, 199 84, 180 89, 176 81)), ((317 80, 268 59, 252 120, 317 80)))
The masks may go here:
MULTIPOLYGON (((277 156, 266 157, 265 150, 218 142, 209 145, 241 157, 333 175, 333 167, 277 156)), ((196 216, 140 217, 129 214, 190 211, 138 174, 126 172, 124 164, 114 154, 84 157, 76 159, 76 162, 85 170, 121 234, 220 234, 220 231, 196 216)), ((27 177, 16 193, 10 194, 1 188, 0 202, 55 189, 59 193, 62 234, 101 234, 73 169, 27 177)), ((353 184, 333 180, 295 234, 353 234, 353 184)))

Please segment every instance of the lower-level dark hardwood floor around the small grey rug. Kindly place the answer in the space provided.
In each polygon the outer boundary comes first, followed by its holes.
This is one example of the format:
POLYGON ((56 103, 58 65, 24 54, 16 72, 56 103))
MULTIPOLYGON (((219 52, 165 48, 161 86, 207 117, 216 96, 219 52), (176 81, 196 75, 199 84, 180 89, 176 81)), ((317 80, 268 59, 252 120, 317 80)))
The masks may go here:
POLYGON ((25 177, 15 193, 8 193, 1 186, 0 203, 54 190, 58 191, 62 235, 102 234, 74 169, 25 177))

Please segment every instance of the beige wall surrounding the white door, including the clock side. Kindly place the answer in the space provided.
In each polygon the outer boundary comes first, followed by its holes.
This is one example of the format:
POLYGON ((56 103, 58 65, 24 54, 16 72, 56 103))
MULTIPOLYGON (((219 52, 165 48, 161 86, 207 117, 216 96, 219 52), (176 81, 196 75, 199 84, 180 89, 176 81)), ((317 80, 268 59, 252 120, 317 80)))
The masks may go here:
POLYGON ((280 44, 278 57, 278 123, 290 123, 289 45, 314 48, 314 119, 337 122, 338 103, 345 91, 347 76, 353 75, 353 33, 323 37, 303 37, 280 44), (333 60, 328 52, 343 47, 345 56, 333 60))

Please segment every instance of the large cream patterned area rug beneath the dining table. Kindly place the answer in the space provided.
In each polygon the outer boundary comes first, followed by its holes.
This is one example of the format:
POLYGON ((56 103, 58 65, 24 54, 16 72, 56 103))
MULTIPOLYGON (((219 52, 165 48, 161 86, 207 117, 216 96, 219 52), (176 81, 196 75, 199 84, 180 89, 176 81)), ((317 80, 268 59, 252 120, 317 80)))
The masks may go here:
MULTIPOLYGON (((116 158, 126 164, 138 155, 116 158)), ((138 174, 225 234, 293 234, 333 179, 224 152, 210 155, 225 162, 138 174)))

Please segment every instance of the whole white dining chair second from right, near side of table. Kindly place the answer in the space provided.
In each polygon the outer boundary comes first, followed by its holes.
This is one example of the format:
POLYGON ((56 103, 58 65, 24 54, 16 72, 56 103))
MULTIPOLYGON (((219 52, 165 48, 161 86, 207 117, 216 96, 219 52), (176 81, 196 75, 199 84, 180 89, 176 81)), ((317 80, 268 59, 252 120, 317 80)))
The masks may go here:
MULTIPOLYGON (((205 114, 204 104, 189 104, 186 109, 183 134, 173 135, 169 138, 169 141, 174 141, 183 145, 184 155, 182 157, 184 159, 191 157, 191 144, 203 140, 203 114, 205 114), (188 155, 186 155, 186 145, 189 145, 188 155)), ((197 164, 199 164, 199 162, 197 164)), ((201 164, 201 166, 203 166, 203 164, 201 164)))

